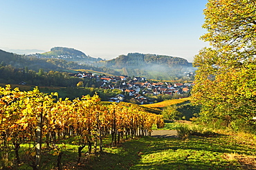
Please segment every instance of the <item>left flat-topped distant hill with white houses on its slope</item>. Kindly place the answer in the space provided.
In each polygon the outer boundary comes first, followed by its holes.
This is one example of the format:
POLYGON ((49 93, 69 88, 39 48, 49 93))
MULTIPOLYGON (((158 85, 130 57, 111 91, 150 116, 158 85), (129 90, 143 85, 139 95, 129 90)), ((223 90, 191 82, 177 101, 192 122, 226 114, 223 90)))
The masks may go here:
POLYGON ((86 54, 82 53, 80 50, 75 50, 74 48, 66 48, 66 47, 54 47, 51 48, 51 51, 36 54, 37 57, 44 57, 44 58, 58 58, 58 59, 65 59, 68 61, 79 61, 82 63, 93 63, 99 62, 101 58, 93 58, 87 56, 86 54))

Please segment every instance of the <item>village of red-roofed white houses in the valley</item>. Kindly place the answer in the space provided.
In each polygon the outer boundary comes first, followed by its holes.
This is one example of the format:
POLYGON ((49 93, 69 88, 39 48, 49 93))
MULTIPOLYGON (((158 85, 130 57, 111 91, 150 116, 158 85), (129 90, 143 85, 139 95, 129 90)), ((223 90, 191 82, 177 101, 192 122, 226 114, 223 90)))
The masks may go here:
POLYGON ((73 76, 81 79, 95 79, 97 84, 100 84, 99 88, 122 91, 122 94, 109 98, 109 102, 123 102, 129 98, 138 104, 148 104, 153 102, 149 99, 152 96, 188 97, 194 86, 194 83, 158 82, 145 77, 106 76, 93 73, 78 73, 73 76))

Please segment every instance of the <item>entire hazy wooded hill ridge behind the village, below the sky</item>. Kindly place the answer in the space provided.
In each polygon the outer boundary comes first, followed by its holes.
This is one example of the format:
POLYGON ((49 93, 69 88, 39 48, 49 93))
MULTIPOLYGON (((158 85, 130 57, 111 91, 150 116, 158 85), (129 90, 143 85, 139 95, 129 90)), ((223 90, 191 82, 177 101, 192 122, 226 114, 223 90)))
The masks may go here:
MULTIPOLYGON (((181 57, 167 55, 128 53, 107 61, 86 56, 80 50, 54 47, 47 53, 17 55, 0 50, 1 66, 28 67, 30 70, 66 71, 71 69, 96 70, 111 75, 142 76, 149 79, 174 80, 193 72, 192 63, 181 57)), ((187 79, 190 80, 190 77, 187 79)))

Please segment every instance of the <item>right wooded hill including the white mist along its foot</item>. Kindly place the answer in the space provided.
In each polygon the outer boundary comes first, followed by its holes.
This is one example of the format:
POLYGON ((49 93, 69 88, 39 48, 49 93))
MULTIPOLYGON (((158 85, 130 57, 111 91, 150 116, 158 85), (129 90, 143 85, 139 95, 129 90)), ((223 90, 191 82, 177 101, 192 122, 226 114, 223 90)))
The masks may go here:
MULTIPOLYGON (((185 72, 194 72, 192 63, 181 57, 128 53, 116 59, 100 61, 96 66, 120 70, 122 75, 147 77, 149 79, 176 80, 185 77, 185 72)), ((185 80, 191 80, 186 77, 185 80)))

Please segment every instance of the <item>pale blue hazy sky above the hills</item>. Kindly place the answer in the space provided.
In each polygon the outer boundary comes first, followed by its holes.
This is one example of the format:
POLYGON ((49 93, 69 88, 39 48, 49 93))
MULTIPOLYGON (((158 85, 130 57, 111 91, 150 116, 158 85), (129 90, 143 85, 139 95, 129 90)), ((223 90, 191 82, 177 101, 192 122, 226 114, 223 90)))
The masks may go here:
POLYGON ((55 46, 112 59, 127 53, 192 62, 207 0, 0 0, 0 49, 55 46))

